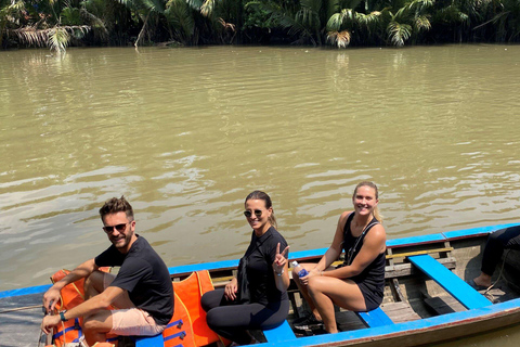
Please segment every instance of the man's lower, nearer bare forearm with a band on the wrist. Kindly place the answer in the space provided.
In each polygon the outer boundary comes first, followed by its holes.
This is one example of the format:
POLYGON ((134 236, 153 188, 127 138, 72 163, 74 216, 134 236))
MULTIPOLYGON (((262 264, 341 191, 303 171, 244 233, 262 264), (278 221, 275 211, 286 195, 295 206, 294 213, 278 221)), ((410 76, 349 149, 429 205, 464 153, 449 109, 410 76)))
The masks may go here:
MULTIPOLYGON (((106 309, 116 300, 116 298, 123 293, 123 290, 117 286, 109 286, 99 295, 79 304, 64 313, 65 319, 75 319, 78 317, 84 317, 95 313, 99 310, 106 309)), ((61 322, 61 317, 46 316, 41 322, 41 330, 43 333, 49 334, 53 326, 56 326, 61 322)))

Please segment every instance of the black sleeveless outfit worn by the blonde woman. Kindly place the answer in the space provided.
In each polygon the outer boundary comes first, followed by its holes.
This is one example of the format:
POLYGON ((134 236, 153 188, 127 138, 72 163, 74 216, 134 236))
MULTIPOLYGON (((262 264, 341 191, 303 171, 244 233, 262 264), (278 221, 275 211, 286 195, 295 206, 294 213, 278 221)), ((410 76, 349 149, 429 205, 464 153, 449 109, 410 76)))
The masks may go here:
MULTIPOLYGON (((344 223, 343 228, 343 244, 342 248, 344 250, 344 264, 343 266, 352 264, 354 258, 360 253, 361 248, 363 247, 363 241, 365 235, 370 231, 370 229, 378 224, 379 221, 376 218, 373 218, 368 223, 368 228, 366 231, 361 234, 359 237, 352 236, 352 232, 350 231, 350 222, 354 218, 354 213, 350 214, 347 218, 347 222, 344 223), (355 245, 355 247, 354 247, 355 245), (352 255, 349 257, 349 253, 352 255), (350 258, 350 264, 347 264, 350 258)), ((358 275, 350 278, 350 280, 354 281, 355 283, 364 283, 367 286, 372 287, 374 291, 380 292, 385 290, 385 253, 380 253, 374 261, 372 261, 364 270, 358 275)))

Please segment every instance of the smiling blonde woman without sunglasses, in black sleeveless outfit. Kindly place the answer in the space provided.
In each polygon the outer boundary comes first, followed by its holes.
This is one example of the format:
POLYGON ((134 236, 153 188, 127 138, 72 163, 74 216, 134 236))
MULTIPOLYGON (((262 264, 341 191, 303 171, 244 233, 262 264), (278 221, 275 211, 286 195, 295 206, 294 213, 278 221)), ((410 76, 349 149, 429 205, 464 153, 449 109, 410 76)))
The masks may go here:
MULTIPOLYGON (((302 264, 309 272, 296 281, 312 312, 295 320, 297 330, 325 329, 337 333, 334 305, 351 311, 369 311, 382 301, 386 233, 380 224, 378 191, 361 182, 352 195, 353 211, 339 217, 333 244, 317 264, 302 264), (330 265, 344 249, 344 262, 330 265)), ((296 271, 294 279, 298 279, 296 271)))

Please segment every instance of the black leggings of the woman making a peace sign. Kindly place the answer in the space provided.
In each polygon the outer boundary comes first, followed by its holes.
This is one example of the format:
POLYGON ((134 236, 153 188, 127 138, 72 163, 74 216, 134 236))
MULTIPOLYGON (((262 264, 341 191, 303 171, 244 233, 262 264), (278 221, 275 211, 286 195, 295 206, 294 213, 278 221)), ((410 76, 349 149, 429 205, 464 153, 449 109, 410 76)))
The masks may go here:
POLYGON ((240 345, 249 344, 248 329, 273 329, 282 324, 289 313, 289 300, 238 305, 227 301, 224 290, 214 290, 203 295, 203 309, 206 320, 217 334, 240 345))

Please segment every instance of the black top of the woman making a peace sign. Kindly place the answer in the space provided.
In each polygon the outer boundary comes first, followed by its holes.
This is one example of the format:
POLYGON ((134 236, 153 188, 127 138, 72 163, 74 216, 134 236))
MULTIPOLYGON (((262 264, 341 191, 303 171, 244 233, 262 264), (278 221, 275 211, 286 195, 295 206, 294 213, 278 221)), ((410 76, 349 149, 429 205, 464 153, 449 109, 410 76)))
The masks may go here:
POLYGON ((269 228, 260 237, 252 232, 251 243, 245 254, 248 257, 246 272, 252 303, 268 305, 288 299, 287 292, 282 293, 276 287, 273 274, 272 265, 278 242, 280 252, 283 252, 287 247, 287 242, 274 227, 269 228))

